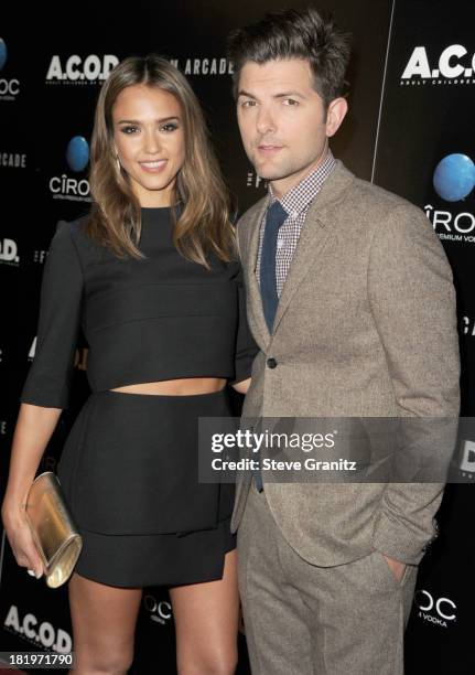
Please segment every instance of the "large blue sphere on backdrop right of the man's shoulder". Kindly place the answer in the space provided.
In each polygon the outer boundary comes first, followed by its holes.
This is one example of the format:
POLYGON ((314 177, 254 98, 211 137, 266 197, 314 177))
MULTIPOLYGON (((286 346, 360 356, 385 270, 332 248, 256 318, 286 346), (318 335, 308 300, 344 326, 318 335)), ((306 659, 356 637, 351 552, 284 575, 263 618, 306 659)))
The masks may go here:
POLYGON ((475 188, 475 164, 466 154, 447 154, 435 167, 433 184, 443 200, 458 202, 475 188))

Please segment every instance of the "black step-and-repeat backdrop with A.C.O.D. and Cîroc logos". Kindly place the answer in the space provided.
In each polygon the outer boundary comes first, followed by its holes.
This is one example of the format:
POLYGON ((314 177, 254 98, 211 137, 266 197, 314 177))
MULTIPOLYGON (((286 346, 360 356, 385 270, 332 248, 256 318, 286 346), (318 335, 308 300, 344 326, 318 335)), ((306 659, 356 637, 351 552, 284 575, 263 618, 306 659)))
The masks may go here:
MULTIPOLYGON (((287 0, 281 7, 305 7, 287 0)), ((423 208, 452 264, 458 297, 463 414, 475 415, 475 4, 473 0, 322 0, 353 33, 350 113, 334 153, 357 175, 423 208), (472 262, 472 264, 471 264, 472 262)), ((39 292, 60 219, 90 204, 93 114, 111 68, 131 54, 159 52, 190 78, 239 212, 266 191, 240 146, 230 93, 228 32, 272 0, 44 2, 0 9, 0 495, 19 395, 35 352, 39 292), (34 28, 26 38, 25 24, 34 28)), ((433 317, 438 339, 438 317, 433 317)), ((87 344, 75 355, 74 396, 39 471, 55 470, 65 437, 87 396, 87 344)), ((438 367, 438 364, 434 364, 438 367)), ((240 400, 236 397, 236 410, 240 400)), ((463 435, 462 435, 463 436, 463 435)), ((475 438, 461 438, 453 483, 438 514, 440 537, 425 555, 407 631, 407 673, 475 672, 473 486, 475 438), (464 484, 457 484, 457 480, 464 484)), ((65 588, 29 577, 1 533, 0 651, 67 653, 73 638, 65 588)), ((111 561, 114 564, 114 561, 111 561)), ((147 588, 137 626, 133 673, 175 673, 173 613, 166 589, 147 588)), ((239 673, 249 673, 240 635, 239 673)))

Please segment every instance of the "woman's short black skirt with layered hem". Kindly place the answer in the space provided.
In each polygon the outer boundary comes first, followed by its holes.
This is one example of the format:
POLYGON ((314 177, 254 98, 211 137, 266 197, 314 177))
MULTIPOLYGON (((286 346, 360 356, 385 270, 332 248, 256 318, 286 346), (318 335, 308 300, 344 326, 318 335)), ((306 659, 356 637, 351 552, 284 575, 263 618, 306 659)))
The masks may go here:
POLYGON ((125 588, 223 577, 234 485, 198 482, 198 418, 230 415, 226 388, 90 395, 57 472, 84 540, 75 571, 125 588))

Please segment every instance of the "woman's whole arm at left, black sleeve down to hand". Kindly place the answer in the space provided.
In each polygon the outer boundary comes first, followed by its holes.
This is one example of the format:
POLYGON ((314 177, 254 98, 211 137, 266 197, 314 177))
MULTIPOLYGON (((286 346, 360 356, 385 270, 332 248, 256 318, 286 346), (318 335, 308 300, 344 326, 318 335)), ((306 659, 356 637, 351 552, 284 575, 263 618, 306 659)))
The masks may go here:
POLYGON ((69 224, 56 228, 43 270, 36 349, 23 385, 1 515, 17 562, 43 572, 24 513, 26 494, 67 406, 80 323, 83 271, 69 224))

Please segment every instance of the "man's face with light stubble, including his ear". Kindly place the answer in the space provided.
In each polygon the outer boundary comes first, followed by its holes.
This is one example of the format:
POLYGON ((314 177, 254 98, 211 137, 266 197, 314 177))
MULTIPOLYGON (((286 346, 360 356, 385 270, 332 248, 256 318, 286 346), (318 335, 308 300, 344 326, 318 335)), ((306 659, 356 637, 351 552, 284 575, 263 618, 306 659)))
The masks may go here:
POLYGON ((325 106, 307 61, 247 62, 239 77, 237 115, 246 153, 257 173, 282 196, 321 163, 327 138, 346 113, 337 98, 325 106))

